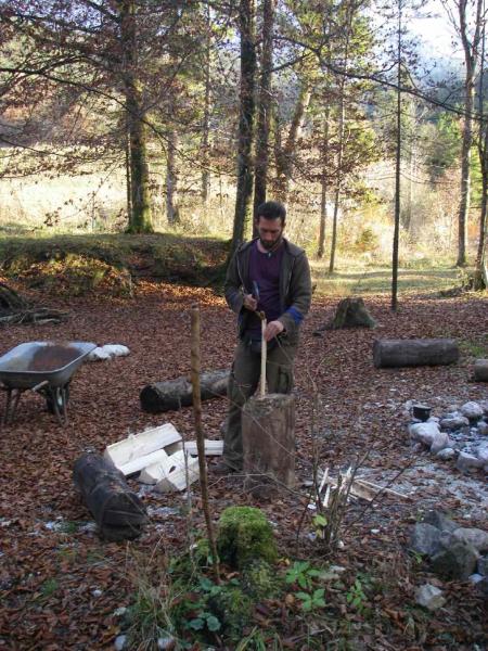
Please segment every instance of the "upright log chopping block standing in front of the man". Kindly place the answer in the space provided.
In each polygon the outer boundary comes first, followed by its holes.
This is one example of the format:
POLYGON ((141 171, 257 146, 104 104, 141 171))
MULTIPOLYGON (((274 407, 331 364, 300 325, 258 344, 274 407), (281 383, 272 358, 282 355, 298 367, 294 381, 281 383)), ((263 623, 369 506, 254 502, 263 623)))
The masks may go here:
POLYGON ((295 398, 253 397, 242 411, 245 488, 271 498, 280 486, 295 486, 295 398))

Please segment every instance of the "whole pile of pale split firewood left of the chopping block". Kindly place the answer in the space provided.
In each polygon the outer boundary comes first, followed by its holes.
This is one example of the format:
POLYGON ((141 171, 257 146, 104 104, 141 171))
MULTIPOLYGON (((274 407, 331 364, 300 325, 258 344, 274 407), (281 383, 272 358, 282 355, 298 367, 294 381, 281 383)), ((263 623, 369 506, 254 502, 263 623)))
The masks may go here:
MULTIPOLYGON (((205 455, 222 454, 222 441, 205 441, 205 455)), ((139 474, 143 484, 159 493, 184 490, 200 476, 196 442, 185 442, 171 423, 108 445, 104 458, 126 477, 139 474)))

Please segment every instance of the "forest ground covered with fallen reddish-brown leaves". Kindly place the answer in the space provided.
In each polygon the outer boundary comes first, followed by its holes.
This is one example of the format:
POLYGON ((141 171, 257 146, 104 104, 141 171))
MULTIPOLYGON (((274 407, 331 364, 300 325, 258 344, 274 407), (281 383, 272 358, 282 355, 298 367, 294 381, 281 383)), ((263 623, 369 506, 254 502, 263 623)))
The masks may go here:
MULTIPOLYGON (((47 301, 38 290, 30 296, 47 301)), ((113 649, 125 633, 118 609, 130 607, 147 580, 159 590, 159 605, 165 608, 166 560, 181 554, 196 529, 204 531, 197 486, 192 488, 191 519, 185 496, 146 493, 151 521, 143 535, 128 544, 104 542, 90 525, 72 472, 82 452, 103 452, 129 433, 165 422, 194 439, 191 408, 147 414, 140 408, 139 392, 150 382, 188 374, 190 307, 195 301, 202 312, 204 369, 229 367, 234 317, 209 289, 144 280, 132 297, 52 296, 51 307, 70 310, 67 322, 0 330, 2 352, 25 341, 50 339, 121 343, 130 348, 128 357, 85 363, 76 372, 67 426, 57 425, 39 396, 26 394, 14 423, 1 429, 0 649, 113 649)), ((325 607, 310 617, 297 600, 264 604, 254 615, 253 630, 272 629, 278 637, 266 641, 264 634, 264 646, 249 642, 246 648, 486 649, 487 613, 476 589, 468 582, 434 577, 408 549, 412 525, 432 507, 450 511, 460 524, 486 528, 486 477, 481 472, 463 477, 449 462, 434 462, 428 452, 413 451, 403 406, 416 399, 438 413, 452 403, 488 398, 488 386, 471 381, 473 359, 488 356, 488 298, 409 293, 400 296, 396 314, 389 310, 386 294, 370 294, 365 302, 378 323, 376 330, 325 332, 319 339, 312 332, 332 316, 337 298, 314 296, 296 360, 297 476, 303 482, 311 478, 318 391, 321 465, 345 468, 370 449, 364 473, 381 483, 406 469, 393 488, 413 490, 413 497, 384 496, 374 508, 351 503, 344 548, 329 559, 345 572, 341 582, 325 586, 325 607), (457 337, 460 362, 374 368, 375 339, 416 336, 457 337), (426 582, 441 587, 447 598, 435 613, 415 603, 414 590, 426 582)), ((220 437, 224 414, 224 399, 203 404, 207 437, 220 437)), ((211 472, 209 476, 215 518, 231 505, 259 506, 273 523, 283 559, 323 563, 320 545, 309 536, 306 488, 257 505, 243 490, 242 477, 221 478, 211 472)), ((139 489, 137 482, 130 484, 139 489)))

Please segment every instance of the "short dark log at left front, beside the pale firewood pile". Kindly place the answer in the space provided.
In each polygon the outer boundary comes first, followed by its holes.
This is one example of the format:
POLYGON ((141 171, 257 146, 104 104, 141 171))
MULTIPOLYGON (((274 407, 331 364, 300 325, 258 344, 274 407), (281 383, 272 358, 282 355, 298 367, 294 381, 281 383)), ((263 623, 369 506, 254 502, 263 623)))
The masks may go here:
POLYGON ((73 478, 103 538, 126 540, 142 533, 145 507, 113 463, 99 455, 82 455, 75 462, 73 478))

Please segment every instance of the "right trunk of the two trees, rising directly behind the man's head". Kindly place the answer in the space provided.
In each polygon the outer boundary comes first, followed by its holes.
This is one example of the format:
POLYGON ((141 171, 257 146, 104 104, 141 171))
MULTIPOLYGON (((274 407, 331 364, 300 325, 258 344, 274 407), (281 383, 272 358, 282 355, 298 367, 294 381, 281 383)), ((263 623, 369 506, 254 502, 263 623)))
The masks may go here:
MULTIPOLYGON (((254 217, 257 209, 266 201, 268 186, 268 145, 269 125, 271 118, 271 66, 273 54, 274 1, 264 0, 262 4, 262 53, 261 77, 259 87, 258 122, 256 132, 256 164, 254 181, 254 217)), ((253 224, 253 237, 257 237, 253 224)))

